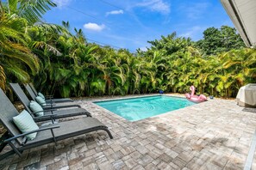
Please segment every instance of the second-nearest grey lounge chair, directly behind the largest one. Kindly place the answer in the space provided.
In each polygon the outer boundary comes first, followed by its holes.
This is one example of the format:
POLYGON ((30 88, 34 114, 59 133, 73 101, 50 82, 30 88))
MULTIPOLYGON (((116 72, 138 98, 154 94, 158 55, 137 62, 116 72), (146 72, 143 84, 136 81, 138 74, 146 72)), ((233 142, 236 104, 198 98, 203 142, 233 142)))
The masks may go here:
MULTIPOLYGON (((25 109, 30 114, 32 114, 32 117, 34 118, 34 121, 38 122, 38 121, 43 121, 43 120, 49 120, 50 119, 49 117, 44 117, 44 116, 35 117, 34 113, 36 113, 36 112, 31 111, 31 109, 29 107, 30 100, 28 100, 27 95, 24 94, 24 92, 22 91, 22 88, 19 85, 16 85, 14 83, 10 83, 10 86, 11 86, 11 88, 16 89, 16 94, 18 95, 18 98, 22 101, 22 104, 25 107, 25 109)), ((4 99, 4 97, 1 96, 1 99, 0 99, 1 102, 3 100, 2 98, 4 99)), ((7 98, 7 97, 5 96, 5 98, 7 98)), ((91 113, 86 111, 84 108, 68 108, 68 109, 61 109, 61 110, 44 109, 44 115, 49 116, 51 114, 54 115, 53 118, 67 118, 67 117, 79 116, 79 115, 86 115, 88 117, 91 117, 91 113)))

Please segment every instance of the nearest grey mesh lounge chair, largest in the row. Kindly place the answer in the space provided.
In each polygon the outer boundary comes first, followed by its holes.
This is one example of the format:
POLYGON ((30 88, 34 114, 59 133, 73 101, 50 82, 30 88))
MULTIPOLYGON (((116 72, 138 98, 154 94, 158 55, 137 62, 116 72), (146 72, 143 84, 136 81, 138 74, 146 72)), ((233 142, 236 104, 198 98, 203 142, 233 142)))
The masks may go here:
POLYGON ((0 155, 0 160, 14 153, 22 156, 22 151, 26 149, 33 149, 47 143, 57 144, 60 140, 79 136, 91 131, 103 130, 109 134, 111 139, 113 138, 108 127, 97 120, 97 118, 78 118, 75 120, 60 122, 59 124, 41 126, 38 130, 21 133, 13 123, 13 117, 17 116, 19 112, 16 110, 16 107, 12 105, 9 99, 6 100, 3 96, 6 97, 3 90, 0 88, 0 123, 3 124, 7 131, 9 131, 10 136, 10 138, 4 140, 4 143, 8 143, 13 150, 0 155), (26 135, 34 132, 37 132, 37 135, 33 140, 28 140, 27 137, 25 137, 26 135))

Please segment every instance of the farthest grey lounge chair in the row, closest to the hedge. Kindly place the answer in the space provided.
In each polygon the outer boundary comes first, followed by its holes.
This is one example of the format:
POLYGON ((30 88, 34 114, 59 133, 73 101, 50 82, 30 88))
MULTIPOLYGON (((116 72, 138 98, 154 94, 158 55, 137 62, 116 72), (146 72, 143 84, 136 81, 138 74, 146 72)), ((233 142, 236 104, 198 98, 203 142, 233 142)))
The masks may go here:
MULTIPOLYGON (((30 93, 33 93, 35 96, 37 96, 38 95, 38 92, 36 91, 36 89, 34 88, 34 85, 33 85, 33 83, 32 82, 30 82, 30 83, 28 83, 28 84, 24 84, 24 86, 25 86, 25 88, 28 90, 28 88, 30 88, 29 89, 29 94, 30 93)), ((33 95, 33 94, 30 94, 31 96, 33 95)), ((46 97, 48 97, 49 99, 46 99, 46 101, 47 102, 53 102, 53 103, 63 103, 63 102, 73 102, 74 100, 72 100, 72 99, 70 99, 70 98, 61 98, 61 99, 53 99, 53 96, 52 95, 49 95, 49 96, 47 96, 46 95, 46 97)))

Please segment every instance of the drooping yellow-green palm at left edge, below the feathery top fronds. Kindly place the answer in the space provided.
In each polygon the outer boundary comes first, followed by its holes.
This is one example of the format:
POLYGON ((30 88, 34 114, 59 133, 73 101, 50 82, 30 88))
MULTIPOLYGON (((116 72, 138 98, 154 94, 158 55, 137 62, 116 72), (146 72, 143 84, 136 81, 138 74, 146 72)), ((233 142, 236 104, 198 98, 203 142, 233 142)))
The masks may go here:
MULTIPOLYGON (((1 4, 1 2, 0 2, 1 4)), ((0 66, 1 79, 14 77, 16 81, 28 82, 29 74, 35 75, 39 70, 38 58, 28 48, 26 35, 27 21, 8 15, 0 5, 0 66)), ((2 81, 1 88, 5 88, 2 81)))

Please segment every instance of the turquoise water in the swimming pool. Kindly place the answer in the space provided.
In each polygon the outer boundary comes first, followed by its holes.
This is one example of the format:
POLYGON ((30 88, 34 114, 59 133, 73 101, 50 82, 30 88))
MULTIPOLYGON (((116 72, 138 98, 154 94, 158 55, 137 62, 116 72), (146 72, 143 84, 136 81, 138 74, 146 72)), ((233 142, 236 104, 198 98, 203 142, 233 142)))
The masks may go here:
POLYGON ((95 103, 129 121, 153 117, 195 104, 184 98, 165 95, 126 100, 97 101, 95 103))

